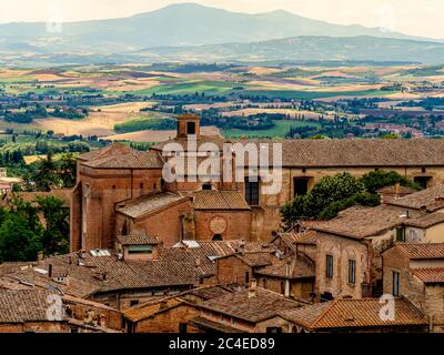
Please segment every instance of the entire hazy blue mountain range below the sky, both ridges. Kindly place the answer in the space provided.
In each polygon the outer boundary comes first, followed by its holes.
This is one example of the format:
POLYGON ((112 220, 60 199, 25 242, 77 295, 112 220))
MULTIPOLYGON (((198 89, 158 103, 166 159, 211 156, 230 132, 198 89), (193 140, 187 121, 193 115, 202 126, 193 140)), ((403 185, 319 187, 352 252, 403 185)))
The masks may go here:
MULTIPOLYGON (((340 26, 286 11, 235 13, 182 3, 130 18, 0 24, 0 55, 124 55, 196 60, 444 61, 444 43, 362 26, 340 26), (235 44, 234 44, 235 43, 235 44)), ((120 57, 119 57, 120 58, 120 57)))

